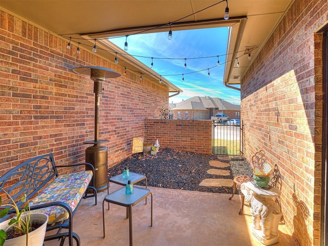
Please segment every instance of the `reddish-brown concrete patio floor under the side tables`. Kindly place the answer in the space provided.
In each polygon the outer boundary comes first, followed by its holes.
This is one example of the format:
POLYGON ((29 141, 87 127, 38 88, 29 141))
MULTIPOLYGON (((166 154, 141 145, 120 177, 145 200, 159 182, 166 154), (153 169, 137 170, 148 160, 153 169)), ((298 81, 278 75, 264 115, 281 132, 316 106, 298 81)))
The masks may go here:
MULTIPOLYGON (((110 192, 121 188, 111 183, 110 192)), ((263 245, 251 233, 251 216, 248 206, 239 212, 239 195, 232 200, 230 194, 171 190, 149 187, 153 194, 153 227, 151 199, 148 196, 133 208, 133 245, 263 245)), ((81 245, 129 245, 129 219, 126 208, 105 203, 106 237, 103 238, 102 203, 107 191, 94 199, 84 199, 74 216, 74 232, 81 245)), ((75 242, 74 242, 75 243, 75 242)), ((45 242, 46 246, 59 245, 57 240, 45 242)), ((68 240, 65 244, 68 245, 68 240)), ((75 244, 74 244, 75 245, 75 244)), ((283 224, 279 225, 279 242, 274 245, 297 245, 283 224)))

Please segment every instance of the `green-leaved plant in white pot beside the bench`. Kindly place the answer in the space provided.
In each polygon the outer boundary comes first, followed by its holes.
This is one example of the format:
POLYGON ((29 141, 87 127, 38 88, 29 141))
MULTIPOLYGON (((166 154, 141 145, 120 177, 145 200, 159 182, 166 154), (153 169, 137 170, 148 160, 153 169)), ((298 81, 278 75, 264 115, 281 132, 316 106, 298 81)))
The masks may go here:
MULTIPOLYGON (((13 198, 3 188, 0 189, 6 193, 7 197, 12 202, 2 207, 0 210, 0 218, 8 215, 10 210, 15 210, 13 214, 16 215, 0 223, 0 246, 42 246, 45 239, 48 216, 46 214, 31 213, 29 202, 19 211, 13 198)), ((23 196, 21 200, 22 202, 26 202, 26 195, 23 196)), ((0 206, 1 204, 2 199, 0 197, 0 206)))

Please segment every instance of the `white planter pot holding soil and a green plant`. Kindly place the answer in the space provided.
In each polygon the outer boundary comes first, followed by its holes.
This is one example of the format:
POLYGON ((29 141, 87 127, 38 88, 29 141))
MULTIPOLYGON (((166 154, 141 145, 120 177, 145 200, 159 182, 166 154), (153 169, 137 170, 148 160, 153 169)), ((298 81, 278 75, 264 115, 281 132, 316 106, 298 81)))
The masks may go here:
MULTIPOLYGON (((29 244, 28 246, 42 246, 45 240, 46 228, 48 222, 48 215, 46 214, 38 214, 31 213, 31 221, 40 220, 44 222, 42 226, 37 228, 36 230, 29 232, 29 244)), ((9 220, 6 220, 0 223, 0 229, 6 230, 8 228, 9 220)), ((26 235, 8 239, 5 241, 4 246, 16 246, 16 245, 26 245, 26 235)))

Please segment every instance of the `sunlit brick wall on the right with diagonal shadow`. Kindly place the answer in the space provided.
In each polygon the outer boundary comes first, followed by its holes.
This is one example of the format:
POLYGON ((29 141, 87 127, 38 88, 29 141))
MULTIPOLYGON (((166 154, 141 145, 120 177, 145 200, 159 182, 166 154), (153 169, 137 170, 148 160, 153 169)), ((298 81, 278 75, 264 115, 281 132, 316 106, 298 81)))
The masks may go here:
POLYGON ((300 245, 320 245, 322 35, 326 1, 296 0, 241 84, 244 154, 282 175, 284 221, 300 245))

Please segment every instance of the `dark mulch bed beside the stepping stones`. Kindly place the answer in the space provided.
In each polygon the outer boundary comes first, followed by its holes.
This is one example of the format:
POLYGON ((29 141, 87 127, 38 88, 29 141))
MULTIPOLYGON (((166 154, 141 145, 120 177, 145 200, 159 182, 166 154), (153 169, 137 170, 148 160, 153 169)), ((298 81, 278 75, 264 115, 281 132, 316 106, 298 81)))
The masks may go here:
MULTIPOLYGON (((109 168, 108 171, 110 176, 115 176, 120 174, 124 167, 128 167, 130 172, 146 175, 148 186, 150 187, 232 194, 232 187, 199 186, 199 183, 206 178, 233 179, 232 174, 230 176, 208 174, 207 171, 209 169, 217 169, 209 165, 210 160, 218 160, 218 156, 172 149, 159 149, 157 155, 133 154, 118 163, 118 165, 109 168)), ((244 161, 243 158, 235 158, 233 160, 231 161, 232 163, 244 161)), ((220 169, 231 171, 230 167, 220 169)), ((137 185, 146 185, 146 182, 140 181, 137 185)))

